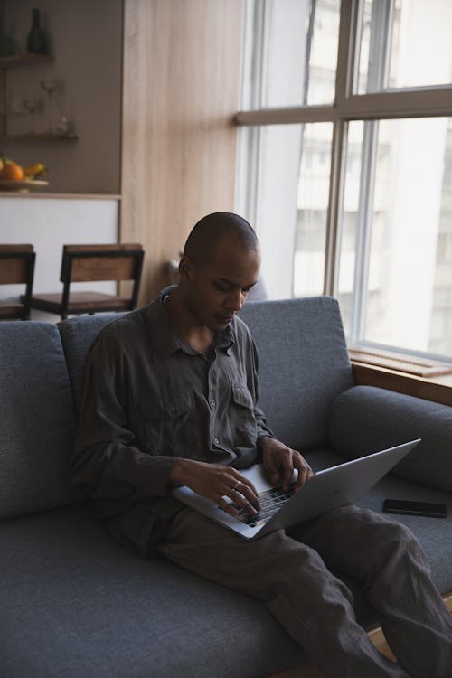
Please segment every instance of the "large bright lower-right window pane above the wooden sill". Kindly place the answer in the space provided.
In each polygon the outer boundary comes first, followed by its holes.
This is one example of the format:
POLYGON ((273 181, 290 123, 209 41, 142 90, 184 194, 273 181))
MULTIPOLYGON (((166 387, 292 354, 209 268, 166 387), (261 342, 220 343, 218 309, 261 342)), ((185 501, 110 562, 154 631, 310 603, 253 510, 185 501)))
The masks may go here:
POLYGON ((345 184, 353 341, 452 357, 452 118, 350 123, 345 184))

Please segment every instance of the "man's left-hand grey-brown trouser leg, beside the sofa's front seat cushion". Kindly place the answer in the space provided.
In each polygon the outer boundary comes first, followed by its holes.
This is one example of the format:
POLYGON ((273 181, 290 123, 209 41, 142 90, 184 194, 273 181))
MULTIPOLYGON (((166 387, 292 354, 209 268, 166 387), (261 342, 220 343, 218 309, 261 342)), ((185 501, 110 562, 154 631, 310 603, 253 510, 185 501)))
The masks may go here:
POLYGON ((327 678, 407 678, 357 624, 349 589, 312 548, 284 531, 245 541, 185 509, 159 551, 206 579, 259 598, 327 678))

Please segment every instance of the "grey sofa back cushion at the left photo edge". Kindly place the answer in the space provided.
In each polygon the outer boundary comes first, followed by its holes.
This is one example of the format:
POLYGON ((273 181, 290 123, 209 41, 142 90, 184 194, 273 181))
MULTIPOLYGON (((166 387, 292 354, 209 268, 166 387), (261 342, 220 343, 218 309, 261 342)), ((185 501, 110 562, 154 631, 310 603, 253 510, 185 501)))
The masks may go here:
POLYGON ((55 325, 1 323, 0 374, 0 517, 77 501, 69 485, 75 416, 55 325))

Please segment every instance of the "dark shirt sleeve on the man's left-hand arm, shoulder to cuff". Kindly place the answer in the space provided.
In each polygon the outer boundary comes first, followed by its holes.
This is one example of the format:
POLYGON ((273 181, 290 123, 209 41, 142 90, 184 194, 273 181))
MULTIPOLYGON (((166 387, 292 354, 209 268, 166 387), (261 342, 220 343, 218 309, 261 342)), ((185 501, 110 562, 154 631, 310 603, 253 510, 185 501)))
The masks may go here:
POLYGON ((85 366, 71 479, 97 500, 164 497, 178 459, 150 455, 137 447, 127 426, 124 372, 120 349, 101 333, 85 366))

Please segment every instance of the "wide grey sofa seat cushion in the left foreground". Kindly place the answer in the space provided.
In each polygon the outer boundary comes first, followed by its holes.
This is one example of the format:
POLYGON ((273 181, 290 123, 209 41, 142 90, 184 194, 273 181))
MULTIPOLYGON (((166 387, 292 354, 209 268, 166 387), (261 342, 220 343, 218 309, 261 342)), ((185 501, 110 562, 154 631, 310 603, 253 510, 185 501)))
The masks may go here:
POLYGON ((306 661, 262 604, 111 541, 80 506, 0 524, 2 678, 231 678, 306 661))

